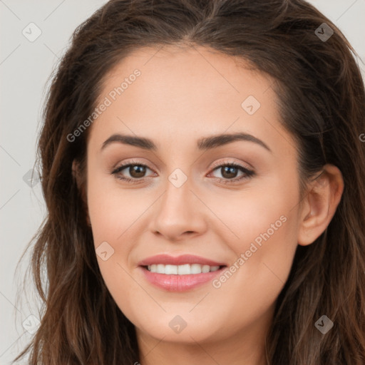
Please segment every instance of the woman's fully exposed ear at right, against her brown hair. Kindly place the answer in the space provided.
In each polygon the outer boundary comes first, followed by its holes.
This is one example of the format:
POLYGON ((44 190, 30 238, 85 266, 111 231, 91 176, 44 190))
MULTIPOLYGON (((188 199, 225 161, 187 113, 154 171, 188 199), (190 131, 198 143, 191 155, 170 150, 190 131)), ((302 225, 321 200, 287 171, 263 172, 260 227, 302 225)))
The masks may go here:
POLYGON ((331 222, 344 191, 341 171, 334 165, 324 165, 323 173, 309 184, 302 202, 302 215, 298 232, 298 244, 313 243, 331 222))

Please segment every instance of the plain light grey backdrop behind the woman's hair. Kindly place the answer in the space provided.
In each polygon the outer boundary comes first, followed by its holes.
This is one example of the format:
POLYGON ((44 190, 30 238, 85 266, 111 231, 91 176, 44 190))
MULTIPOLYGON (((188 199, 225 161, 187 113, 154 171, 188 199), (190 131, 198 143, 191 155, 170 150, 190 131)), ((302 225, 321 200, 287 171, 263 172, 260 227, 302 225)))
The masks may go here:
MULTIPOLYGON (((309 2, 334 21, 349 39, 362 59, 359 66, 364 75, 365 0, 309 2)), ((76 26, 105 3, 0 0, 0 365, 10 364, 31 339, 38 318, 32 304, 36 300, 32 287, 28 297, 21 292, 21 300, 16 302, 16 289, 29 256, 16 276, 15 269, 46 214, 41 184, 35 179, 31 185, 29 178, 36 158, 36 138, 42 123, 48 78, 76 26)))

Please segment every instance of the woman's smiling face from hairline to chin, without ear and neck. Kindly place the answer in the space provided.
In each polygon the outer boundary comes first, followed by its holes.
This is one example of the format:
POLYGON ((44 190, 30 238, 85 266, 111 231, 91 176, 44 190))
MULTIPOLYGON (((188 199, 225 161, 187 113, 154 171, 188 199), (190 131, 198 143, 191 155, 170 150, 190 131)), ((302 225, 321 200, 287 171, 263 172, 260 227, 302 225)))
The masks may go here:
POLYGON ((271 86, 202 47, 140 48, 109 73, 88 139, 88 214, 103 279, 140 336, 266 331, 300 221, 295 143, 271 86), (170 258, 145 261, 155 255, 170 258))

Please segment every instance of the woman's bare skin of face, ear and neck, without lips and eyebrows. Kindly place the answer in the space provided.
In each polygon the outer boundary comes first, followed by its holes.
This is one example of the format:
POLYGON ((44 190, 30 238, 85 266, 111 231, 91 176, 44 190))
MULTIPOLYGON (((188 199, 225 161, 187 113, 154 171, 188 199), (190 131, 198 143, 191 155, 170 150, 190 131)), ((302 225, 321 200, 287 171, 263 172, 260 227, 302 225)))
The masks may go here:
MULTIPOLYGON (((210 48, 158 49, 140 48, 108 73, 100 101, 135 68, 141 75, 88 130, 88 220, 95 247, 108 242, 114 250, 106 261, 98 257, 101 274, 135 325, 140 364, 266 364, 264 339, 295 250, 329 225, 344 187, 341 173, 326 165, 299 204, 295 143, 279 122, 272 79, 210 48), (253 115, 241 106, 247 96, 261 104, 253 115), (235 132, 254 135, 271 152, 242 140, 197 148, 202 137, 235 132), (150 138, 158 148, 111 143, 101 151, 113 133, 150 138), (111 174, 132 159, 148 165, 140 183, 111 174), (230 183, 215 162, 238 163, 255 175, 230 183), (181 187, 168 180, 177 168, 187 177, 181 187), (283 215, 281 227, 220 288, 209 282, 167 292, 138 269, 141 259, 160 253, 230 267, 283 215), (176 315, 187 324, 180 333, 169 326, 176 315)), ((236 171, 231 179, 244 175, 236 171)), ((135 177, 129 168, 119 175, 135 177)))

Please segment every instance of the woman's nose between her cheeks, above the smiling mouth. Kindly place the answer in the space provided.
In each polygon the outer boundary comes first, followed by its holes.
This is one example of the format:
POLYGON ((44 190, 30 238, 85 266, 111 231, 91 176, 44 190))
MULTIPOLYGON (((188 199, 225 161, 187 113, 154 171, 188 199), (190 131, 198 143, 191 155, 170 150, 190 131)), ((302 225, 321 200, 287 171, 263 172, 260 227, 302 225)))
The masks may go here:
POLYGON ((189 178, 180 187, 168 180, 165 192, 154 205, 150 232, 174 242, 205 232, 204 205, 197 195, 191 190, 189 178))

